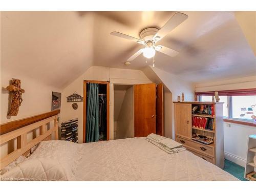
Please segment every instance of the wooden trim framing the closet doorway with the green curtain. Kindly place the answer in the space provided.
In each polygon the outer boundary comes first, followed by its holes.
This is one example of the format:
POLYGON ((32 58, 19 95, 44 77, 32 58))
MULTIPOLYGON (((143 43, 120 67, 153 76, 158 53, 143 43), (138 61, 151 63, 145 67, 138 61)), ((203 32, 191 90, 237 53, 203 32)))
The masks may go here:
POLYGON ((83 135, 82 135, 82 142, 86 142, 86 108, 87 108, 87 83, 99 83, 99 84, 106 84, 106 140, 110 139, 110 82, 109 81, 96 81, 96 80, 83 80, 83 135))

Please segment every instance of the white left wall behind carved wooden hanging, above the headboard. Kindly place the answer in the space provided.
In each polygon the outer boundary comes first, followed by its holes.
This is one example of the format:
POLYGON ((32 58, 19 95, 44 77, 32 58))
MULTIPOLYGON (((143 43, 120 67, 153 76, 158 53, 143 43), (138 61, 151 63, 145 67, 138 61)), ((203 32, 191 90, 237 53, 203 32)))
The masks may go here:
POLYGON ((52 91, 61 92, 60 89, 48 86, 37 79, 31 79, 19 71, 1 70, 1 123, 16 119, 27 118, 52 110, 52 91), (21 88, 25 90, 22 98, 22 105, 19 106, 17 116, 7 116, 8 106, 11 102, 9 91, 5 88, 9 86, 10 80, 17 78, 22 81, 21 88))

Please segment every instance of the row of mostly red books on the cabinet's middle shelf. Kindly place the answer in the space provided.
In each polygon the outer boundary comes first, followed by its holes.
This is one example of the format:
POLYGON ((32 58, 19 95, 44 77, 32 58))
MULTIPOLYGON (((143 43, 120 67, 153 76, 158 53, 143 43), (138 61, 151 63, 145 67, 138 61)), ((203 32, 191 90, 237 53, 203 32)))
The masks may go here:
POLYGON ((192 127, 200 129, 215 130, 214 119, 207 117, 192 116, 192 127))

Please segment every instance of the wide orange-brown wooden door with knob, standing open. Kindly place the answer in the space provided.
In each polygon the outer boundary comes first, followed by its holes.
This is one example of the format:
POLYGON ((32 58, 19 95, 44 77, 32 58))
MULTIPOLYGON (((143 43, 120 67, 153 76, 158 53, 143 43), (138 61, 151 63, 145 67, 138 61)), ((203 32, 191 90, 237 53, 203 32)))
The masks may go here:
POLYGON ((156 133, 156 84, 134 86, 134 136, 156 133))

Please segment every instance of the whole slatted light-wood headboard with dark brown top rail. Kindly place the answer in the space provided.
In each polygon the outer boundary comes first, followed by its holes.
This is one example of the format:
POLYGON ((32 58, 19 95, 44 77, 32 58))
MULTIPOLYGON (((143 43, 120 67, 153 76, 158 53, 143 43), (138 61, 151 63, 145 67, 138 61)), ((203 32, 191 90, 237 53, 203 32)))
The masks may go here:
POLYGON ((4 168, 12 161, 28 152, 33 146, 42 140, 51 140, 54 134, 58 140, 58 121, 57 116, 60 110, 11 121, 0 125, 0 145, 17 138, 16 150, 1 158, 0 169, 4 168), (53 122, 53 126, 49 126, 53 122), (39 135, 27 142, 27 134, 39 127, 39 135))

